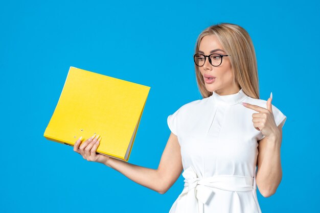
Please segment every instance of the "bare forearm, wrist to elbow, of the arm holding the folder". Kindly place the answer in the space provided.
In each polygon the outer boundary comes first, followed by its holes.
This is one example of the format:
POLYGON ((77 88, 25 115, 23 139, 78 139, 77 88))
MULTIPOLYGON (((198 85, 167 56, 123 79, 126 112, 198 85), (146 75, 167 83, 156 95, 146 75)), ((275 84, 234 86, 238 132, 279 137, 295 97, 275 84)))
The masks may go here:
POLYGON ((163 184, 161 183, 162 181, 160 180, 158 170, 140 167, 139 165, 128 163, 116 158, 110 158, 104 164, 122 173, 130 180, 163 194, 163 184))

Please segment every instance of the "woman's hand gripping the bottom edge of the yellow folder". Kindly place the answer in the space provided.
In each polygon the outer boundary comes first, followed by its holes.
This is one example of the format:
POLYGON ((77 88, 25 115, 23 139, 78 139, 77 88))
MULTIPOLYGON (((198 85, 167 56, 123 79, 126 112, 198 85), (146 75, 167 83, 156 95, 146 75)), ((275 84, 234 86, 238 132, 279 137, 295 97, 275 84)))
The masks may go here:
POLYGON ((99 135, 96 136, 94 134, 92 137, 86 139, 83 143, 81 143, 82 136, 76 141, 73 150, 87 161, 94 161, 106 164, 110 159, 109 156, 105 156, 99 153, 96 153, 100 140, 99 135), (99 138, 99 139, 98 139, 99 138), (81 144, 81 145, 80 145, 81 144))

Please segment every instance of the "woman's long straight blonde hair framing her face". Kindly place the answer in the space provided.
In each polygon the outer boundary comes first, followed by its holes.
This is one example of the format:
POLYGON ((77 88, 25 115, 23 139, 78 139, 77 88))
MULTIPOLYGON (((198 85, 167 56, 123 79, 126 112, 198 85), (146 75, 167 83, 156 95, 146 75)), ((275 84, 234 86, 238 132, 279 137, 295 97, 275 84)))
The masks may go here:
MULTIPOLYGON (((204 29, 197 38, 195 53, 199 51, 201 39, 206 35, 215 35, 222 44, 237 80, 247 96, 259 99, 258 68, 255 48, 248 32, 233 23, 220 23, 204 29)), ((199 67, 195 65, 196 79, 202 98, 212 96, 205 88, 199 67)))

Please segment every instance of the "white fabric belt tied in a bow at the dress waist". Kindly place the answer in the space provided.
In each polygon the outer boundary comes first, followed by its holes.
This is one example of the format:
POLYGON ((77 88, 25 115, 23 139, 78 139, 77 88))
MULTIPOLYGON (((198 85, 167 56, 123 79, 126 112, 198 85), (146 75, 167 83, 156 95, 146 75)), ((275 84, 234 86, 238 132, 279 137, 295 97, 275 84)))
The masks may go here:
POLYGON ((177 201, 187 194, 186 212, 203 213, 203 205, 212 199, 212 188, 224 191, 249 192, 255 190, 255 178, 237 175, 217 175, 207 178, 198 178, 192 167, 182 173, 185 178, 185 188, 178 196, 177 201))

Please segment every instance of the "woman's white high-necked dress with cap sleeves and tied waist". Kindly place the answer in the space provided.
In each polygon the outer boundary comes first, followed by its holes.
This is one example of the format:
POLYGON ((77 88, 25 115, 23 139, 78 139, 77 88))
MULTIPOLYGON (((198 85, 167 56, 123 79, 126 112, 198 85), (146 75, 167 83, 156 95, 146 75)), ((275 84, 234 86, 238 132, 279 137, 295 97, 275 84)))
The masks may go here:
MULTIPOLYGON (((253 126, 255 110, 238 102, 267 108, 267 101, 238 93, 216 92, 181 106, 168 116, 177 135, 185 187, 169 213, 261 213, 257 200, 258 140, 264 135, 253 126)), ((286 116, 272 105, 277 126, 286 116)))

